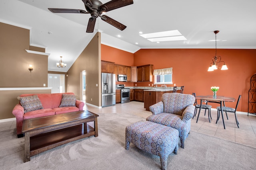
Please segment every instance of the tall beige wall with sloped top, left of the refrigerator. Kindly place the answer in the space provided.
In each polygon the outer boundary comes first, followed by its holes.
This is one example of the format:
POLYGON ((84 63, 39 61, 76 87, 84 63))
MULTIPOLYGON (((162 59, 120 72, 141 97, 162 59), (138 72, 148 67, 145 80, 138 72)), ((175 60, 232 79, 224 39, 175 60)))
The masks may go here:
POLYGON ((82 100, 80 95, 80 74, 86 71, 86 103, 101 106, 101 46, 100 33, 92 38, 75 63, 68 70, 67 92, 73 92, 82 100), (99 71, 100 70, 100 71, 99 71), (96 86, 98 84, 98 86, 96 86))

